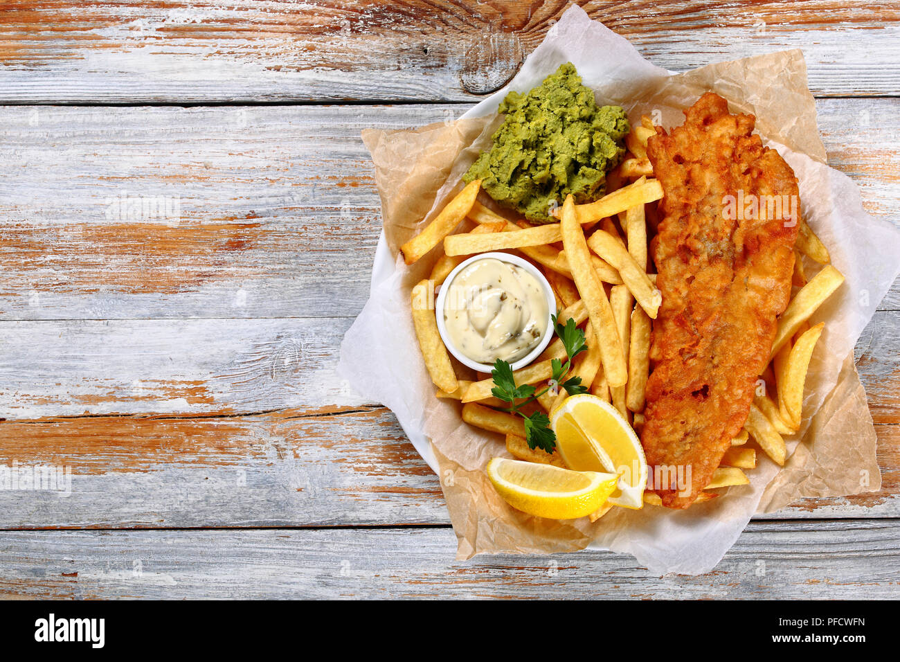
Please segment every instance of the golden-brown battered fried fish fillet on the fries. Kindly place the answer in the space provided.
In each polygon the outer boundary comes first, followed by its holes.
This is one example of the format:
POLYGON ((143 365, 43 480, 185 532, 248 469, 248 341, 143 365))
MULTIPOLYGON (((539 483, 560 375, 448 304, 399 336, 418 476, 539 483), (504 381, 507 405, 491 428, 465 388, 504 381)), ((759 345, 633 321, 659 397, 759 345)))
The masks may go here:
POLYGON ((670 508, 694 502, 747 419, 788 305, 799 221, 797 177, 752 135, 753 115, 712 93, 685 114, 647 144, 664 193, 651 247, 662 306, 641 441, 670 508))

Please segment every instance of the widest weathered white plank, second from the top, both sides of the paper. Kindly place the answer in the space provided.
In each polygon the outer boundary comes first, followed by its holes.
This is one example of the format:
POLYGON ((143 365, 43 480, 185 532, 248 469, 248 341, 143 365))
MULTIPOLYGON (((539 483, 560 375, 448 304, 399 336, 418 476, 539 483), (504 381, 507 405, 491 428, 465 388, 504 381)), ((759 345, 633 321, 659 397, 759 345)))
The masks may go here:
MULTIPOLYGON (((900 99, 817 109, 835 168, 900 225, 900 99)), ((381 228, 360 131, 463 110, 7 106, 0 320, 356 315, 381 228)))

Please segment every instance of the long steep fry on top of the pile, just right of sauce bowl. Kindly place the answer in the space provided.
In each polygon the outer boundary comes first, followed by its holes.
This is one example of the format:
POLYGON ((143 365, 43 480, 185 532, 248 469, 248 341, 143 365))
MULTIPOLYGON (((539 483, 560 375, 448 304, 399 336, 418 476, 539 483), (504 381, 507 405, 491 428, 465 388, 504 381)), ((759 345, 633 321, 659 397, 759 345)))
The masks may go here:
POLYGON ((575 216, 575 203, 572 195, 568 195, 563 204, 561 226, 563 246, 572 268, 572 280, 575 281, 575 285, 581 293, 581 300, 588 309, 590 322, 599 340, 600 353, 603 357, 603 372, 609 385, 624 385, 628 377, 628 368, 625 354, 622 351, 622 342, 618 338, 616 321, 613 319, 612 307, 609 305, 606 292, 603 291, 603 286, 600 285, 597 273, 591 265, 588 243, 584 239, 584 232, 581 231, 581 225, 575 216))

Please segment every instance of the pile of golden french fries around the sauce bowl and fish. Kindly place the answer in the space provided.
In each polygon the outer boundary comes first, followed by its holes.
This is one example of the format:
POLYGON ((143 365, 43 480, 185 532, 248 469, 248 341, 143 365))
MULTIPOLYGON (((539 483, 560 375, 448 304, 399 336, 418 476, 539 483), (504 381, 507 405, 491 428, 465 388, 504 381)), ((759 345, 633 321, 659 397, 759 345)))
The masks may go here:
MULTIPOLYGON (((465 422, 505 435, 506 448, 515 458, 565 466, 558 452, 528 447, 523 419, 499 411, 509 405, 491 395, 490 375, 473 374, 448 354, 437 331, 435 288, 464 259, 479 253, 505 250, 526 258, 552 286, 559 322, 571 318, 584 326, 588 351, 575 359, 574 374, 581 376, 581 384, 590 393, 613 404, 640 434, 653 320, 662 302, 648 259, 648 234, 655 231, 657 201, 662 198, 662 186, 653 178, 646 150, 655 132, 650 119, 642 118, 626 138, 626 159, 608 174, 607 194, 589 204, 574 204, 570 197, 554 211, 560 222, 533 225, 510 220, 477 200, 481 181, 476 180, 401 247, 408 265, 432 249, 442 249, 430 276, 412 290, 413 322, 437 396, 461 401, 465 422)), ((783 466, 784 437, 800 428, 806 371, 824 329, 824 322, 810 326, 808 320, 843 277, 830 265, 822 241, 806 222, 799 222, 795 294, 779 317, 770 364, 760 377, 743 431, 732 440, 732 448, 697 503, 717 496, 713 490, 750 482, 744 469, 757 464, 756 449, 747 445, 751 439, 783 466), (823 265, 808 280, 807 258, 823 265)), ((516 383, 550 379, 553 358, 565 358, 561 340, 554 340, 530 366, 517 370, 516 383)), ((564 391, 548 392, 533 406, 549 413, 565 397, 564 391)), ((644 503, 662 502, 657 494, 647 492, 644 503)))

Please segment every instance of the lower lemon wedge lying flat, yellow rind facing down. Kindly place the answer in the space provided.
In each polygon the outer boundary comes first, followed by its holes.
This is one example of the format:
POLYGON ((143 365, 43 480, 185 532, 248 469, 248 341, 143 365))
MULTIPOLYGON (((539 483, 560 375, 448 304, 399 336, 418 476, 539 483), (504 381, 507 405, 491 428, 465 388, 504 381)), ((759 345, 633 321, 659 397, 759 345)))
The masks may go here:
POLYGON ((551 520, 574 520, 596 512, 617 481, 614 474, 507 458, 488 462, 488 477, 513 508, 551 520))

